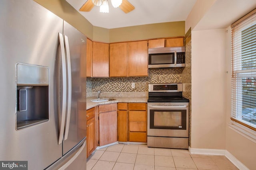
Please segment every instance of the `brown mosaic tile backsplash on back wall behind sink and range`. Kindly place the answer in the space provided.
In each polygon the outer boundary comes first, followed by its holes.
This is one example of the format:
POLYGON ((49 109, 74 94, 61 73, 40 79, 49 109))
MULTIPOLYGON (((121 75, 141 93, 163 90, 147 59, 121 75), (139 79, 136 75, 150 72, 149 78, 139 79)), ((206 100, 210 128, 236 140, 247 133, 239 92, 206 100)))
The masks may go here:
POLYGON ((157 68, 149 69, 147 77, 87 78, 86 92, 148 92, 148 84, 151 83, 182 82, 183 70, 184 68, 157 68), (135 88, 132 88, 132 83, 135 83, 135 88))

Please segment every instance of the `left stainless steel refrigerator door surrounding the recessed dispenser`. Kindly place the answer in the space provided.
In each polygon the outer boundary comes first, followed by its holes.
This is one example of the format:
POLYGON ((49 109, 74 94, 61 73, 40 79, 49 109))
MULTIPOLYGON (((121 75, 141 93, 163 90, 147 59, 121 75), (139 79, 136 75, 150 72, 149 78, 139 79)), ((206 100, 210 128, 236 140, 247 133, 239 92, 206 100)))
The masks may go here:
POLYGON ((44 169, 62 156, 54 75, 63 20, 33 0, 1 0, 0 20, 0 160, 24 160, 31 170, 44 169), (22 129, 16 127, 17 63, 49 70, 48 120, 22 129))

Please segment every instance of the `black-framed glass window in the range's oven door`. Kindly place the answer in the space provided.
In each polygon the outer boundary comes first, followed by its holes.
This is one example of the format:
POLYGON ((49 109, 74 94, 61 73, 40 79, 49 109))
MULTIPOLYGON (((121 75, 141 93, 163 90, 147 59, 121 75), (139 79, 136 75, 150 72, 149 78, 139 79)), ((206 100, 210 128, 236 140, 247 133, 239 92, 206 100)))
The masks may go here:
POLYGON ((150 129, 186 129, 186 110, 150 109, 150 129))

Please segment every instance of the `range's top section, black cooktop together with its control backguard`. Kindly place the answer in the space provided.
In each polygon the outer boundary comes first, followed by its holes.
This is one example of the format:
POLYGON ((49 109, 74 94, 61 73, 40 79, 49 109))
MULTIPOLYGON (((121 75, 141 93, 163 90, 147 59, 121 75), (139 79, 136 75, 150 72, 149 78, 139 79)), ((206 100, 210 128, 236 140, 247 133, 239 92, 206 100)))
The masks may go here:
POLYGON ((148 84, 148 102, 189 102, 182 97, 182 83, 148 84))

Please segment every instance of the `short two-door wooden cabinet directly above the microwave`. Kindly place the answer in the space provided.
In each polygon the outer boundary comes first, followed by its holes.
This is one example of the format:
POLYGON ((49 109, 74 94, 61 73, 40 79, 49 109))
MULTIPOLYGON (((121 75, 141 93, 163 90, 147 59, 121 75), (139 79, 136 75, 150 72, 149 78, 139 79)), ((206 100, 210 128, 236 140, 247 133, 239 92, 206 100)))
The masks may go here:
POLYGON ((148 40, 148 48, 180 47, 183 46, 183 38, 151 39, 148 40))

